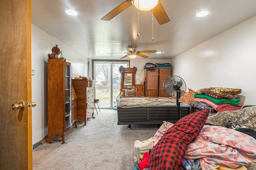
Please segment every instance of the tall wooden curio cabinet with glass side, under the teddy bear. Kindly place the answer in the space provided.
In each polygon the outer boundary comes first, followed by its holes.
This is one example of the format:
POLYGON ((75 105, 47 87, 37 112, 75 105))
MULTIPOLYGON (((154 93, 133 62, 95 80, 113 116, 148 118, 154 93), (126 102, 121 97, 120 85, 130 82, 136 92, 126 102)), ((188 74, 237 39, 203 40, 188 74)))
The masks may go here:
POLYGON ((48 59, 48 142, 60 135, 65 142, 65 133, 72 128, 72 66, 62 59, 48 59))

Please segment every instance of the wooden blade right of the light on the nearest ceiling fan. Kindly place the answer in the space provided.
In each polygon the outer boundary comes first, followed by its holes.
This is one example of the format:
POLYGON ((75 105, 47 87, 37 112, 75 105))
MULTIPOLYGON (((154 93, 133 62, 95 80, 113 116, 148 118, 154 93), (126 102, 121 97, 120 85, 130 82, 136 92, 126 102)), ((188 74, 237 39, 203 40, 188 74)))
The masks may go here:
POLYGON ((151 12, 153 12, 154 17, 156 18, 160 25, 170 22, 170 18, 166 14, 164 6, 162 5, 161 2, 159 2, 159 4, 151 10, 151 12))

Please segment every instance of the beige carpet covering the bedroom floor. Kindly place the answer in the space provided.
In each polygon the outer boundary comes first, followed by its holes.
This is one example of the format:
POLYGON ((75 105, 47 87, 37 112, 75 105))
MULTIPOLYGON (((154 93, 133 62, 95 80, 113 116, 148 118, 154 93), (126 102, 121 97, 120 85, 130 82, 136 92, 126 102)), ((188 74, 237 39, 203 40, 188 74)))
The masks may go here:
POLYGON ((67 131, 65 144, 57 135, 53 143, 34 149, 33 170, 134 170, 134 141, 154 136, 158 125, 117 125, 112 109, 101 109, 95 117, 67 131))

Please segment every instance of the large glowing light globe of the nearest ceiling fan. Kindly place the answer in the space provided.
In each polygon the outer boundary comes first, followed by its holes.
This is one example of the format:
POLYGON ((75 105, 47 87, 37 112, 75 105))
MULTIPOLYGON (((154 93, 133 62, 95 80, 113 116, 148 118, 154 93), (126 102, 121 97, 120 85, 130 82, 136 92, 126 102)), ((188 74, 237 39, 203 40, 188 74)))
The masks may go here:
POLYGON ((132 4, 142 11, 152 10, 159 2, 160 0, 132 0, 132 4))

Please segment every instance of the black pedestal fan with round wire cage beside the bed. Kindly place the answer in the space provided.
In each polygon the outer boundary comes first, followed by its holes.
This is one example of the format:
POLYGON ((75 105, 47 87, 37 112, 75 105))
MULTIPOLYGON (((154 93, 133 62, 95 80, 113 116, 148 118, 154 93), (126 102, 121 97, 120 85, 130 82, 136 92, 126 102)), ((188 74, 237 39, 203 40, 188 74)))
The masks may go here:
POLYGON ((176 99, 178 119, 180 119, 180 97, 186 92, 186 83, 179 76, 169 76, 164 80, 164 92, 176 99))

